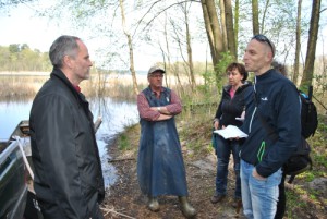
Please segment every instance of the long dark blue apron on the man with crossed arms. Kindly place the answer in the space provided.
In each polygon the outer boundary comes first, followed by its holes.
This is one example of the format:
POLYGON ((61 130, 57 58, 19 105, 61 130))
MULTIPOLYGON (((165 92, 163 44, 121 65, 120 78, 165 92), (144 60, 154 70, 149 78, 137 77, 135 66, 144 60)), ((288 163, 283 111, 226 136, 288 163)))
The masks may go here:
MULTIPOLYGON (((164 88, 160 99, 148 87, 143 90, 150 107, 170 104, 170 89, 164 88)), ((165 121, 141 119, 137 179, 148 196, 186 196, 186 177, 174 118, 165 121)))

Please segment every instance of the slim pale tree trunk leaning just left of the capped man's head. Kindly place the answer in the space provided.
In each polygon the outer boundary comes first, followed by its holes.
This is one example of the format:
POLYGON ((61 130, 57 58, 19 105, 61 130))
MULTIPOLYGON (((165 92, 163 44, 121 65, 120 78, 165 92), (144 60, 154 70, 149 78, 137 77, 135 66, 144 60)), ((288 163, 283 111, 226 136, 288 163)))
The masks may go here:
POLYGON ((126 31, 125 26, 125 12, 124 12, 124 5, 123 5, 123 0, 119 0, 120 9, 121 9, 121 19, 122 19, 122 26, 125 36, 128 37, 128 44, 129 44, 129 49, 130 49, 130 71, 132 74, 132 80, 133 80, 133 88, 134 93, 137 95, 138 94, 138 87, 137 87, 137 81, 136 81, 136 73, 135 73, 135 68, 134 68, 134 56, 133 56, 133 42, 132 42, 132 37, 126 31))

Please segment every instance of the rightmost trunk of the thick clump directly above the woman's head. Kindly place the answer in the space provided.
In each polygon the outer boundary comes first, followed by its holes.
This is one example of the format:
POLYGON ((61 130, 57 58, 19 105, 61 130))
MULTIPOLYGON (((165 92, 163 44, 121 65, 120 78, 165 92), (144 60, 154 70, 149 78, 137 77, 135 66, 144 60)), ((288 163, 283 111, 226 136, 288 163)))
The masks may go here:
POLYGON ((228 50, 237 61, 237 48, 235 48, 235 36, 234 36, 234 25, 233 25, 233 11, 231 5, 231 0, 223 0, 225 2, 225 13, 226 13, 226 31, 228 38, 228 50))

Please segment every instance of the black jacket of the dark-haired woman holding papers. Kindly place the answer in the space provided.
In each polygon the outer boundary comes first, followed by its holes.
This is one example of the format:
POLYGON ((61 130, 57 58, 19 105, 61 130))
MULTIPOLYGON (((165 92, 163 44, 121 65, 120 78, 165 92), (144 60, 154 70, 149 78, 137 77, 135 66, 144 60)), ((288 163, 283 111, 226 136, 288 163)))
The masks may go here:
POLYGON ((242 86, 240 86, 234 94, 234 97, 231 98, 229 92, 231 89, 231 85, 227 85, 222 88, 222 96, 219 102, 218 109, 216 111, 215 119, 219 120, 219 126, 227 126, 229 124, 241 126, 242 122, 235 120, 237 117, 240 117, 244 106, 244 90, 251 86, 251 82, 245 82, 242 86))

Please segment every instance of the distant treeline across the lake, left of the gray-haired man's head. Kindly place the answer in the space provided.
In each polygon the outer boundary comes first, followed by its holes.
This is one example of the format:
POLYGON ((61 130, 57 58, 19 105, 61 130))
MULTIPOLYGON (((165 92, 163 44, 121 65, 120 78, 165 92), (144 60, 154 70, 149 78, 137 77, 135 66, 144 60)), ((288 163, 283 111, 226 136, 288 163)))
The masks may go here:
POLYGON ((26 44, 0 46, 0 71, 47 72, 51 69, 49 52, 32 50, 26 44))

